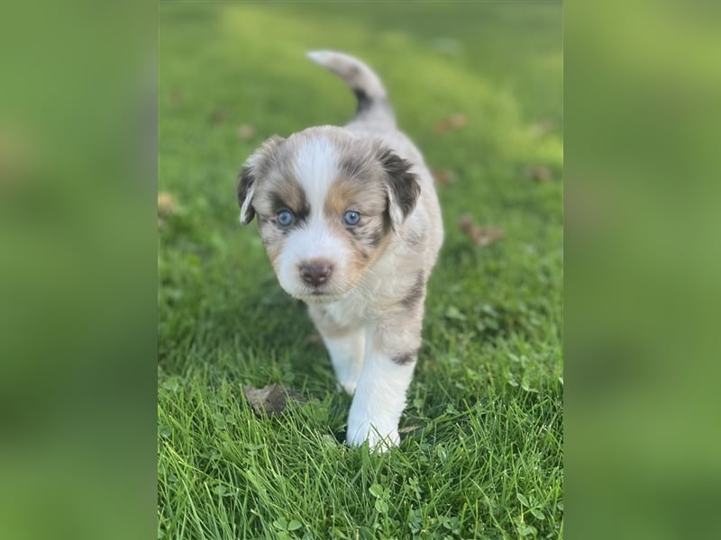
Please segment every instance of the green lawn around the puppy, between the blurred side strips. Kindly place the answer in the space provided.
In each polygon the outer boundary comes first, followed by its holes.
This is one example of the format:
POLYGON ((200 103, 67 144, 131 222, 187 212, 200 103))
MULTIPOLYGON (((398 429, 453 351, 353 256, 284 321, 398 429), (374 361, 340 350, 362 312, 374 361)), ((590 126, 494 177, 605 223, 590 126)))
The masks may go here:
POLYGON ((160 230, 159 537, 562 536, 561 70, 560 4, 160 5, 160 190, 178 210, 160 230), (351 117, 352 94, 304 57, 319 48, 375 67, 454 179, 385 455, 338 442, 350 398, 237 221, 235 175, 263 139, 351 117), (468 124, 436 133, 455 112, 468 124), (506 237, 474 245, 467 211, 506 237), (260 419, 242 385, 269 383, 310 402, 260 419))

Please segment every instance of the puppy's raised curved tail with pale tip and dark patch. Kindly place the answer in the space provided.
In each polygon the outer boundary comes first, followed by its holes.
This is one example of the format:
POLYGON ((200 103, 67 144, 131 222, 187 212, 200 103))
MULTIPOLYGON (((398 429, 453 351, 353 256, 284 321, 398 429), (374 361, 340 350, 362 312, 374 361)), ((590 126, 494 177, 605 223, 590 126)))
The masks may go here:
POLYGON ((358 99, 353 120, 383 121, 396 124, 393 109, 388 103, 388 94, 375 72, 358 58, 334 50, 314 50, 307 53, 312 59, 335 75, 340 76, 351 87, 358 99))

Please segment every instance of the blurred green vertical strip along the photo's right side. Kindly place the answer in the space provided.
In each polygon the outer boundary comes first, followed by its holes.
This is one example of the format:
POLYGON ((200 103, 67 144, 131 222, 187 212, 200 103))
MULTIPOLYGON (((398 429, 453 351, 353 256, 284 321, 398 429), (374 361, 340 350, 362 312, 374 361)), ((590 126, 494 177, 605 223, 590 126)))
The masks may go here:
POLYGON ((570 537, 716 536, 720 14, 564 3, 570 537))

